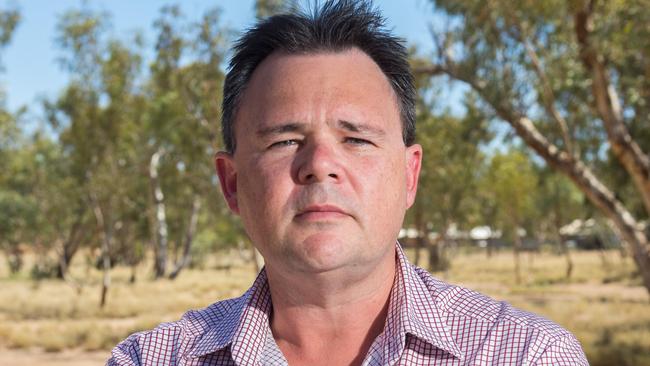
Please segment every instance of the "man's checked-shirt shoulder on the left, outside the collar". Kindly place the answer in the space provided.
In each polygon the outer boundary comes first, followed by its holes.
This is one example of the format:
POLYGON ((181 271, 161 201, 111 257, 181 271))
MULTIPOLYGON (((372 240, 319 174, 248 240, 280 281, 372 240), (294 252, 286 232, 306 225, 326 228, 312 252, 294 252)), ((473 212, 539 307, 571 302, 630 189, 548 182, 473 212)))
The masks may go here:
POLYGON ((242 301, 243 296, 218 301, 203 309, 189 310, 177 321, 133 333, 113 349, 107 365, 176 364, 191 353, 208 330, 230 333, 239 317, 233 310, 242 301), (152 362, 152 358, 157 360, 152 362))

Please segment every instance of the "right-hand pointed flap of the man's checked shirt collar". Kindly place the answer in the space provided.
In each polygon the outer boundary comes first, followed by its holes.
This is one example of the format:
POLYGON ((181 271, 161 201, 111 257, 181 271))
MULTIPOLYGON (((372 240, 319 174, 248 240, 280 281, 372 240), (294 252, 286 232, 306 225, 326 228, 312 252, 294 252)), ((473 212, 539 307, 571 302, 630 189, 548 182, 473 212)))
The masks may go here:
POLYGON ((409 263, 399 243, 396 247, 397 270, 384 328, 384 335, 392 346, 384 347, 384 360, 392 364, 402 354, 407 334, 462 360, 464 353, 452 337, 444 315, 436 306, 435 294, 431 293, 414 266, 409 263))

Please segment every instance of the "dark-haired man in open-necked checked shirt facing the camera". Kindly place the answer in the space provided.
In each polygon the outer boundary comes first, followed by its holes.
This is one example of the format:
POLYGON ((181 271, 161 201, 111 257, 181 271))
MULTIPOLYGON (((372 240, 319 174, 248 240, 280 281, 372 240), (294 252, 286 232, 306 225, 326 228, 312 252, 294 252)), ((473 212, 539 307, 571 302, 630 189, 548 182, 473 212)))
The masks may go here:
POLYGON ((422 159, 406 57, 366 2, 244 34, 216 167, 265 269, 109 365, 587 364, 564 329, 434 279, 396 244, 422 159))

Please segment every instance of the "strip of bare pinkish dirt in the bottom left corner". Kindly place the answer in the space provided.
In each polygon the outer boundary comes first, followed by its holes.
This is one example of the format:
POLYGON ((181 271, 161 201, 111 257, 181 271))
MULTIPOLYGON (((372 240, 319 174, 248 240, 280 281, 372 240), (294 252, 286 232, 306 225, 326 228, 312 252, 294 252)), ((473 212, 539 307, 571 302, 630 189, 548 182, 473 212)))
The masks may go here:
POLYGON ((101 366, 106 363, 108 356, 108 351, 66 350, 63 352, 45 352, 38 349, 0 349, 0 365, 101 366))

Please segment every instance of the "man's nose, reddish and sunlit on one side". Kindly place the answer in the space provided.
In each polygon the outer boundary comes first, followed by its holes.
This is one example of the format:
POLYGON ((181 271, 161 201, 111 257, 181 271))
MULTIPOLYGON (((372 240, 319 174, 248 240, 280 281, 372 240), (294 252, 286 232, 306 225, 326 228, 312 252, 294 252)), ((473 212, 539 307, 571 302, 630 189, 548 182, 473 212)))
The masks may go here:
POLYGON ((296 165, 300 184, 338 182, 341 178, 335 147, 325 142, 312 142, 304 146, 296 159, 296 165))

